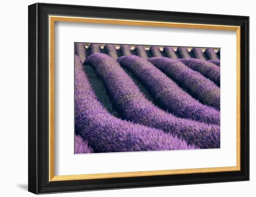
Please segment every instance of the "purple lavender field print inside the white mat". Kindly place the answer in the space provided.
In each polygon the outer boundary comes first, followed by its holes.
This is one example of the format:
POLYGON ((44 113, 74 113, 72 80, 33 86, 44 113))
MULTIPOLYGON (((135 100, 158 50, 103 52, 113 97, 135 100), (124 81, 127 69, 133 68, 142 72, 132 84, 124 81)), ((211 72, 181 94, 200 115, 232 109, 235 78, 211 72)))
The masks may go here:
POLYGON ((220 148, 220 50, 74 44, 74 153, 220 148))

